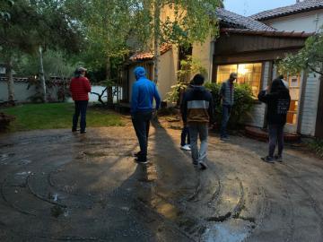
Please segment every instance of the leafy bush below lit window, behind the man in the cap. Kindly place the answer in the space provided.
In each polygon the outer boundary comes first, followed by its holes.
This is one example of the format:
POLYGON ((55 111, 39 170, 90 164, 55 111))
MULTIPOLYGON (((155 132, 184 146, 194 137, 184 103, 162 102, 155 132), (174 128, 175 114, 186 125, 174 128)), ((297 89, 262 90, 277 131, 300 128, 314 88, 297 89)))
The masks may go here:
MULTIPOLYGON (((217 124, 221 124, 222 120, 222 103, 220 99, 220 83, 206 83, 205 88, 211 91, 214 99, 214 115, 217 124)), ((252 98, 252 91, 247 84, 234 84, 234 105, 231 110, 231 117, 229 126, 236 127, 246 117, 253 106, 254 99, 252 98)))

